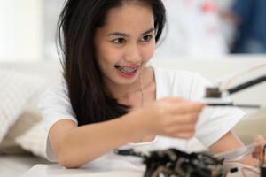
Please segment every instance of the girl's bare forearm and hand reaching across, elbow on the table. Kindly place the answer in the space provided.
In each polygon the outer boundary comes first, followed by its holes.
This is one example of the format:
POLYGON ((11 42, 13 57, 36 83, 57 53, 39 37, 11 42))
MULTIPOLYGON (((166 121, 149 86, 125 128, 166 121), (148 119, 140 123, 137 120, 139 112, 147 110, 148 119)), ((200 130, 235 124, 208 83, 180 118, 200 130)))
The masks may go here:
POLYGON ((146 135, 190 138, 204 104, 165 98, 148 107, 106 122, 76 127, 63 119, 50 129, 51 148, 59 165, 79 167, 146 135))

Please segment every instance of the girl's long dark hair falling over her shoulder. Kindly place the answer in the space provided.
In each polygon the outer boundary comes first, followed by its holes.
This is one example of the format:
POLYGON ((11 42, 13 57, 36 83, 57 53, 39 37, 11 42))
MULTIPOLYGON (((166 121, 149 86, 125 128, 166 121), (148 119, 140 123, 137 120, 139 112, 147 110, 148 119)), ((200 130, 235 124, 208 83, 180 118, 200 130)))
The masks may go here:
POLYGON ((59 45, 63 51, 64 78, 79 126, 118 118, 128 105, 108 96, 94 47, 95 30, 105 25, 107 12, 125 2, 139 2, 153 8, 155 40, 166 22, 161 0, 66 0, 59 16, 59 45))

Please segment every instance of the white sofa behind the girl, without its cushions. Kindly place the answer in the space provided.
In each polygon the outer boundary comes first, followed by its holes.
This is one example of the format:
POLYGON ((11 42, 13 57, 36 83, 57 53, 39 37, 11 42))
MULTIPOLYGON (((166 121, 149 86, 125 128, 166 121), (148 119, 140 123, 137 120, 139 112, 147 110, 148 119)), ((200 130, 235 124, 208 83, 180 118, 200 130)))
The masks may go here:
MULTIPOLYGON (((221 78, 228 73, 234 73, 240 69, 262 62, 266 62, 266 56, 234 56, 213 60, 195 58, 155 58, 152 65, 195 71, 201 73, 209 80, 214 80, 216 78, 221 78)), ((61 69, 58 61, 45 60, 29 63, 0 63, 0 71, 3 68, 30 73, 45 78, 44 88, 60 81, 61 78, 61 69)), ((239 103, 262 104, 266 107, 265 90, 266 82, 233 96, 233 99, 239 103)), ((25 112, 35 112, 40 116, 40 112, 36 107, 37 101, 38 97, 35 97, 33 101, 27 103, 25 106, 25 112)), ((261 133, 262 135, 266 135, 266 130, 263 128, 266 127, 266 111, 262 109, 259 113, 255 112, 250 115, 251 116, 244 119, 237 127, 235 127, 237 134, 240 135, 240 138, 246 143, 251 141, 251 137, 254 134, 261 133)), ((19 176, 38 163, 47 164, 49 162, 44 158, 38 158, 32 154, 0 154, 0 176, 19 176)))

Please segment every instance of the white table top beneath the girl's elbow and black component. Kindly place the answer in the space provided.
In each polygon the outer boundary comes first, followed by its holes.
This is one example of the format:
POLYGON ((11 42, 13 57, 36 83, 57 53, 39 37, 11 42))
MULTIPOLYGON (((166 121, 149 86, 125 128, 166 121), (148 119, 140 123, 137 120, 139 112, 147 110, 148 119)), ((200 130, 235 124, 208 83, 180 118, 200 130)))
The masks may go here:
MULTIPOLYGON (((246 173, 248 177, 258 177, 255 173, 246 173)), ((35 165, 21 177, 143 177, 139 171, 96 172, 90 168, 66 169, 60 165, 35 165)), ((242 177, 242 173, 232 173, 227 177, 242 177)))

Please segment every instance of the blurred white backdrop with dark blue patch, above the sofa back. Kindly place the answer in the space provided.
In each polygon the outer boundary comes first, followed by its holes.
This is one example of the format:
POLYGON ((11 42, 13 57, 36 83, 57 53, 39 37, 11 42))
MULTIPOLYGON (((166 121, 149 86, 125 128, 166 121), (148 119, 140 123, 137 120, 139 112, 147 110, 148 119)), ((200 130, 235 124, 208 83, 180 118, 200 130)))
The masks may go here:
MULTIPOLYGON (((163 0, 168 30, 155 58, 266 52, 266 0, 163 0)), ((57 59, 64 0, 0 0, 0 61, 57 59)))

